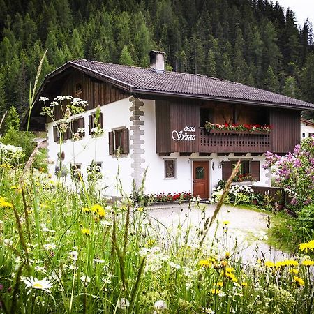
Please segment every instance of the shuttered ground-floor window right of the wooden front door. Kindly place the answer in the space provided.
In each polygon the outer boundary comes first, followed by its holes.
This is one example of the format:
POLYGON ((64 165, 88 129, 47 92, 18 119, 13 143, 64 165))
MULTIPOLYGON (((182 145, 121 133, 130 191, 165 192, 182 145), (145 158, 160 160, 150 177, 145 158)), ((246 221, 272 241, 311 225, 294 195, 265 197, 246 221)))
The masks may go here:
MULTIPOLYGON (((232 160, 222 163, 224 180, 229 179, 237 162, 238 160, 232 160)), ((241 160, 240 169, 234 181, 260 181, 260 161, 241 160)))

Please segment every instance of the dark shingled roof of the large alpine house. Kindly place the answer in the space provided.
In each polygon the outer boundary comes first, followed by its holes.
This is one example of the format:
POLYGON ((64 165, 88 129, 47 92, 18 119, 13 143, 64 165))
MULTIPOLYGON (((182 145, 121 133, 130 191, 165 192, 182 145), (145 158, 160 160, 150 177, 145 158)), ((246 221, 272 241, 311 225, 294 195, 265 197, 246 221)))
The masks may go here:
POLYGON ((69 61, 54 72, 47 75, 57 75, 68 67, 77 68, 84 73, 107 80, 133 94, 161 94, 189 98, 207 98, 212 100, 232 101, 239 103, 254 103, 276 105, 278 107, 294 107, 314 109, 314 105, 263 89, 249 87, 244 84, 220 80, 215 77, 179 72, 164 71, 156 73, 152 68, 122 66, 79 59, 69 61))

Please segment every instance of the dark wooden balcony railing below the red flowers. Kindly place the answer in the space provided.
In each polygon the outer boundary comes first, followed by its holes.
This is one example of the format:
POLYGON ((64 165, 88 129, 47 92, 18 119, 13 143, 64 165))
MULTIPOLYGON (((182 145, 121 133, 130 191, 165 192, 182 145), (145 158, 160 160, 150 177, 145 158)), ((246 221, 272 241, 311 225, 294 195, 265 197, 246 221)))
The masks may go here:
POLYGON ((271 149, 269 133, 198 129, 200 153, 264 153, 271 149))

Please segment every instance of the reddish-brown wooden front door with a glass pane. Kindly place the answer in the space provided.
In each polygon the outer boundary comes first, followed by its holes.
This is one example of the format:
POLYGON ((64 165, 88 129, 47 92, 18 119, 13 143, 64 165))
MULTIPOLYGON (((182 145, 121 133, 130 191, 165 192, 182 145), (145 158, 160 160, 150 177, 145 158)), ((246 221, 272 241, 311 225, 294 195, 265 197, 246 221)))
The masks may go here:
POLYGON ((209 197, 208 161, 193 161, 193 194, 209 197))

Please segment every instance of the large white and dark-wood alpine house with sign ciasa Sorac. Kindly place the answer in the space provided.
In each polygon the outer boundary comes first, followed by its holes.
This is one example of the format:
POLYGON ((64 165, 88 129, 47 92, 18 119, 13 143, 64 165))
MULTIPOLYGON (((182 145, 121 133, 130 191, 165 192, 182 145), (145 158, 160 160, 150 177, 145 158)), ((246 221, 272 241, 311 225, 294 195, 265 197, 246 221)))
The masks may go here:
POLYGON ((116 195, 118 169, 126 193, 131 193, 133 179, 140 186, 147 170, 146 193, 186 191, 206 198, 241 160, 240 181, 269 186, 264 152, 292 151, 299 143, 300 112, 314 106, 235 82, 167 72, 163 52, 151 51, 150 57, 151 68, 70 61, 45 77, 30 128, 47 130, 48 154, 54 160, 50 172, 55 173, 60 156, 68 170, 66 181, 75 180, 77 171, 86 180, 94 162, 104 177, 105 194, 116 195), (61 146, 65 108, 55 106, 53 120, 40 116, 39 98, 57 95, 89 103, 71 117, 61 146), (211 125, 204 128, 207 121, 211 125), (97 124, 104 130, 100 137, 94 136, 97 124))

